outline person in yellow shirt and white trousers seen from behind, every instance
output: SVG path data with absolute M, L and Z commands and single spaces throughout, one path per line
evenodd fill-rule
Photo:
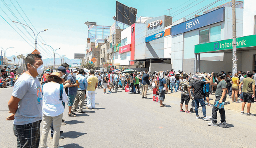
M 87 78 L 87 107 L 86 109 L 95 108 L 95 90 L 98 86 L 98 78 L 94 76 L 94 70 L 90 69 L 90 76 Z

